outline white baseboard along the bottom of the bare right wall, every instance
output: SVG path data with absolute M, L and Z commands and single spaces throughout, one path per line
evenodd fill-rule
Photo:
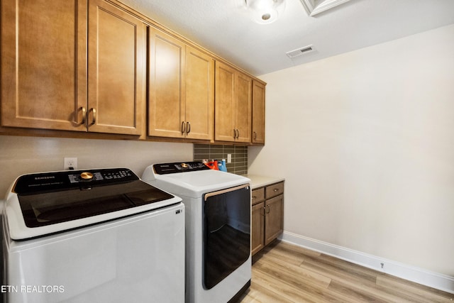
M 284 231 L 282 241 L 454 294 L 454 277 Z

